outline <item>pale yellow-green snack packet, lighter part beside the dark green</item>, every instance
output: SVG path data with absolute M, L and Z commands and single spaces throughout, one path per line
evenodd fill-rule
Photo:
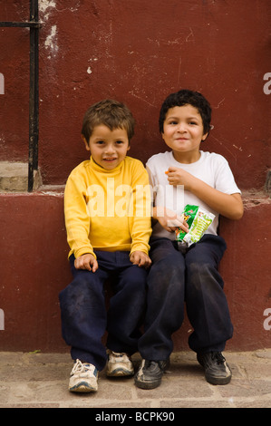
M 204 208 L 198 208 L 197 216 L 194 218 L 193 223 L 189 228 L 189 232 L 185 235 L 185 237 L 183 237 L 183 241 L 187 243 L 188 247 L 199 241 L 214 218 L 215 215 L 209 211 Z

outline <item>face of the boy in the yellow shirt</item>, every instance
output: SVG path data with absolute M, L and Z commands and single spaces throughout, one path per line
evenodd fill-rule
M 86 150 L 91 151 L 92 159 L 107 170 L 115 169 L 130 150 L 127 131 L 111 131 L 104 124 L 94 127 L 88 142 L 84 139 Z

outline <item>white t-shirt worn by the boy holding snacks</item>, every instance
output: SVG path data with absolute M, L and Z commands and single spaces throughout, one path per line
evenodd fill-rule
M 241 193 L 240 189 L 237 188 L 227 160 L 222 155 L 202 150 L 199 152 L 199 160 L 191 164 L 179 163 L 179 161 L 174 159 L 172 151 L 162 152 L 150 157 L 147 161 L 146 169 L 149 173 L 150 184 L 153 189 L 154 206 L 167 207 L 178 215 L 181 215 L 187 204 L 205 208 L 216 216 L 205 233 L 217 235 L 218 212 L 210 208 L 191 192 L 183 190 L 181 185 L 178 187 L 169 185 L 168 175 L 165 174 L 165 171 L 169 167 L 178 167 L 188 171 L 191 175 L 203 180 L 210 187 L 218 189 L 221 192 L 226 194 Z M 168 232 L 162 228 L 159 222 L 154 225 L 152 236 L 175 239 L 175 233 Z

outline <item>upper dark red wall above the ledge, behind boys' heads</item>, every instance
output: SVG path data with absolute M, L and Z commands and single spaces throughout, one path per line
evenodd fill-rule
M 1 2 L 3 21 L 29 19 L 28 0 Z M 40 3 L 40 144 L 44 183 L 64 183 L 87 158 L 82 115 L 93 102 L 126 102 L 138 122 L 131 155 L 165 150 L 160 103 L 180 88 L 213 106 L 205 150 L 230 163 L 242 189 L 263 186 L 270 168 L 269 0 L 72 0 Z M 0 29 L 0 155 L 28 150 L 29 30 Z M 270 78 L 271 79 L 271 78 Z M 269 79 L 269 80 L 270 80 Z

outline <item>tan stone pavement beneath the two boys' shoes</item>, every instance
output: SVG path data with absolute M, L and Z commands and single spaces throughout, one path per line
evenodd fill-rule
M 174 413 L 173 423 L 177 424 L 177 420 L 181 421 L 178 414 L 183 418 L 180 409 L 271 408 L 271 349 L 224 355 L 232 371 L 227 385 L 206 382 L 195 353 L 189 351 L 171 354 L 169 368 L 158 388 L 140 389 L 133 378 L 109 378 L 104 369 L 99 373 L 98 392 L 73 393 L 68 390 L 73 368 L 69 353 L 0 352 L 0 409 L 87 408 L 91 422 L 102 421 L 101 414 L 103 420 L 110 420 L 109 414 L 115 412 L 127 414 L 125 422 L 114 418 L 115 424 L 118 421 L 118 424 L 129 425 L 130 416 L 133 421 L 153 424 L 151 421 L 166 420 L 167 412 Z M 135 371 L 140 360 L 139 353 L 132 355 Z M 140 411 L 144 412 L 143 419 Z M 154 417 L 150 417 L 151 412 Z M 160 417 L 156 417 L 155 412 L 160 413 Z M 20 411 L 20 416 L 22 413 Z M 210 411 L 208 419 L 209 414 Z M 28 412 L 27 415 L 29 419 Z

